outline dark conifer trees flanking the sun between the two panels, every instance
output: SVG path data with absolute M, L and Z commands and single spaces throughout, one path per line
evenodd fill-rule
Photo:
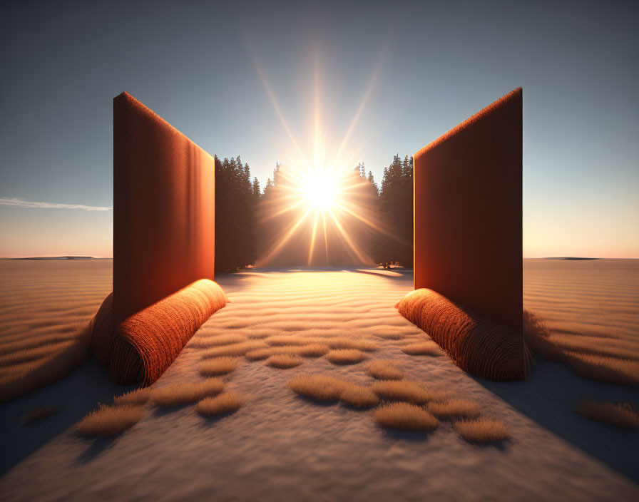
M 273 237 L 281 235 L 296 217 L 294 212 L 276 215 L 274 202 L 285 198 L 282 188 L 280 164 L 275 165 L 272 178 L 268 178 L 263 194 L 260 182 L 252 178 L 248 164 L 242 165 L 239 156 L 220 160 L 215 157 L 215 270 L 230 272 L 255 265 L 258 257 L 264 257 L 273 245 Z M 349 231 L 356 237 L 372 259 L 388 267 L 399 263 L 404 267 L 413 265 L 413 158 L 402 160 L 394 155 L 392 163 L 384 168 L 381 186 L 378 187 L 373 173 L 368 174 L 364 163 L 359 163 L 351 177 L 355 187 L 350 200 L 357 208 L 359 217 L 367 220 L 354 221 Z M 259 225 L 258 225 L 259 222 Z M 295 242 L 295 241 L 294 241 Z M 342 258 L 337 244 L 332 240 L 326 264 L 338 264 Z M 300 242 L 290 247 L 300 247 Z M 304 247 L 305 248 L 305 247 Z M 289 250 L 283 260 L 292 260 L 287 265 L 299 265 L 308 260 L 306 252 Z M 287 258 L 288 257 L 288 258 Z M 280 263 L 284 265 L 284 263 Z

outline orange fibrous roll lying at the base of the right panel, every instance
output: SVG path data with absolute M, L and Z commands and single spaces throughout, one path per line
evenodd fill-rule
M 426 288 L 409 292 L 397 308 L 466 372 L 495 381 L 523 380 L 530 373 L 532 354 L 513 329 Z

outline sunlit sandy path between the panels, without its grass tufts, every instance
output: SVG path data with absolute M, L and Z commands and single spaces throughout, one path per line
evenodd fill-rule
M 307 359 L 300 367 L 281 370 L 242 362 L 228 379 L 228 389 L 247 397 L 237 413 L 203 419 L 193 406 L 149 406 L 140 423 L 113 440 L 81 439 L 66 429 L 0 478 L 4 500 L 639 498 L 637 431 L 616 431 L 572 411 L 583 396 L 636 399 L 634 389 L 578 379 L 549 362 L 539 362 L 529 381 L 494 384 L 467 376 L 445 356 L 408 356 L 399 350 L 401 339 L 426 336 L 393 307 L 411 290 L 411 277 L 402 273 L 257 270 L 222 276 L 219 282 L 232 303 L 203 325 L 156 386 L 200 379 L 203 349 L 195 345 L 205 337 L 322 330 L 374 339 L 379 349 L 372 357 L 394 359 L 410 379 L 479 401 L 485 416 L 508 426 L 511 439 L 474 446 L 447 423 L 431 434 L 389 433 L 374 424 L 372 411 L 314 404 L 285 386 L 295 374 L 322 371 L 370 384 L 362 364 L 335 367 L 324 358 Z M 68 396 L 70 381 L 81 393 L 99 379 L 82 377 L 94 369 L 89 364 L 68 381 L 1 410 L 16 417 L 36 399 Z M 103 395 L 106 384 L 99 383 Z M 26 434 L 24 427 L 21 431 Z

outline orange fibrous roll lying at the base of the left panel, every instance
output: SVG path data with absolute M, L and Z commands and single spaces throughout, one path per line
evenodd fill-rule
M 128 317 L 116 327 L 109 376 L 118 384 L 152 384 L 198 328 L 227 302 L 218 284 L 200 279 Z

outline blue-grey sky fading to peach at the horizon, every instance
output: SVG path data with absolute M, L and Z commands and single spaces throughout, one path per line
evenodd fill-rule
M 229 6 L 230 4 L 230 6 Z M 381 180 L 523 86 L 524 256 L 639 257 L 636 2 L 13 2 L 0 19 L 0 198 L 112 205 L 112 98 L 140 99 L 262 185 L 295 152 Z M 376 73 L 377 71 L 377 73 Z M 377 74 L 377 78 L 374 76 Z M 329 155 L 330 156 L 330 155 Z M 0 256 L 111 255 L 111 211 L 0 204 Z

